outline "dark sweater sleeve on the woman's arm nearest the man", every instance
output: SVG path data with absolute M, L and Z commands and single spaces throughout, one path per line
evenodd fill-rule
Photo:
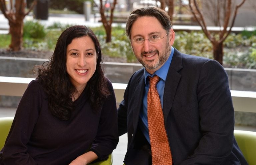
M 90 149 L 97 154 L 100 160 L 106 160 L 118 143 L 116 99 L 109 80 L 108 89 L 111 94 L 104 101 L 97 135 Z

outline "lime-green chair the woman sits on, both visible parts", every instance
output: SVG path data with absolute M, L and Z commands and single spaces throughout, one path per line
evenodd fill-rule
M 5 117 L 5 118 L 0 118 L 0 150 L 3 148 L 6 137 L 10 131 L 12 121 L 14 117 Z M 113 163 L 113 158 L 112 154 L 108 156 L 107 160 L 100 161 L 97 163 L 90 163 L 90 165 L 112 165 Z

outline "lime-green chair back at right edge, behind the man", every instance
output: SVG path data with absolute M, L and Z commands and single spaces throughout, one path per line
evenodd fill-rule
M 234 130 L 235 139 L 249 165 L 256 165 L 256 132 Z

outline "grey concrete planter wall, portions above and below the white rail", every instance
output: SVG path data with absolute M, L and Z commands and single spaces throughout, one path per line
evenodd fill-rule
M 35 78 L 33 68 L 46 59 L 0 57 L 0 76 Z M 131 75 L 142 68 L 141 64 L 105 62 L 105 76 L 112 83 L 128 83 Z M 256 91 L 255 69 L 225 68 L 231 90 Z M 0 96 L 0 106 L 17 107 L 21 97 Z M 235 112 L 236 125 L 256 126 L 256 113 Z

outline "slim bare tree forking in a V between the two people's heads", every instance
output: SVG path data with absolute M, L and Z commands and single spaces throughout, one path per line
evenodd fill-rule
M 110 3 L 110 11 L 107 10 L 107 7 L 103 3 L 103 0 L 100 0 L 100 15 L 101 22 L 103 23 L 104 29 L 106 31 L 106 42 L 111 42 L 111 31 L 112 31 L 112 23 L 114 17 L 114 9 L 116 6 L 117 0 L 113 0 L 113 3 Z M 106 13 L 106 14 L 105 14 Z M 108 16 L 110 13 L 110 16 Z

